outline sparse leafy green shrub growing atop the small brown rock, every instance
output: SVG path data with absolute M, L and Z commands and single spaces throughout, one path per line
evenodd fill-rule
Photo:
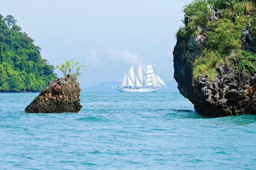
M 74 62 L 74 59 L 72 58 L 70 61 L 66 61 L 65 63 L 61 64 L 61 66 L 56 66 L 56 68 L 63 73 L 64 77 L 67 77 L 68 74 L 71 74 L 76 80 L 78 80 L 79 76 L 82 74 L 80 69 L 85 67 L 85 65 L 80 66 L 79 62 Z

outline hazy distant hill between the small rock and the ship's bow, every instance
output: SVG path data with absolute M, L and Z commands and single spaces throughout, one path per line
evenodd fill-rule
M 119 86 L 122 84 L 118 81 L 104 81 L 91 87 L 83 88 L 84 92 L 118 92 L 112 87 Z

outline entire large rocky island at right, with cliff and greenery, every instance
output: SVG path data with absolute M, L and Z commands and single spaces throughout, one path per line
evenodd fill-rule
M 195 0 L 176 33 L 174 79 L 197 112 L 256 114 L 256 1 Z

